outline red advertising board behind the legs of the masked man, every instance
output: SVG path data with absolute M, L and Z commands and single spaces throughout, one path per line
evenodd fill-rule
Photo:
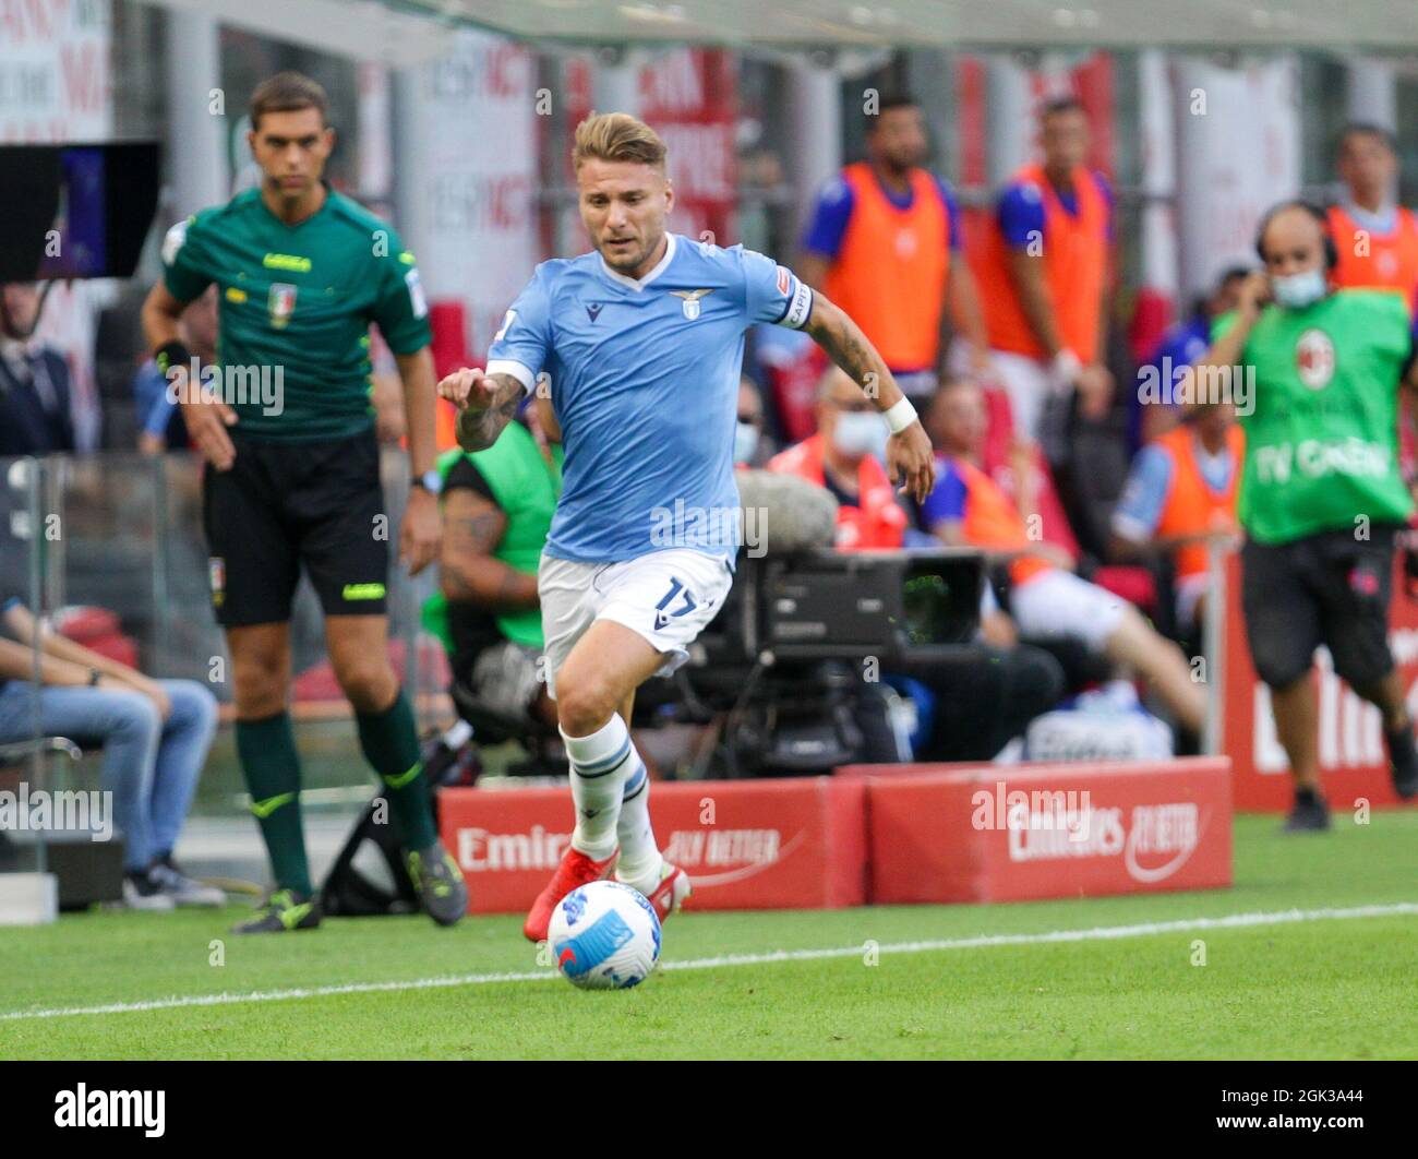
M 1404 594 L 1402 563 L 1394 563 L 1394 600 L 1388 643 L 1404 678 L 1408 704 L 1418 704 L 1418 603 Z M 1289 762 L 1275 735 L 1269 689 L 1256 678 L 1241 613 L 1241 563 L 1227 560 L 1227 623 L 1222 664 L 1222 750 L 1235 769 L 1235 804 L 1241 811 L 1282 811 L 1292 803 Z M 1398 804 L 1388 776 L 1383 719 L 1377 708 L 1334 675 L 1329 651 L 1320 650 L 1317 688 L 1319 758 L 1324 794 L 1336 809 Z

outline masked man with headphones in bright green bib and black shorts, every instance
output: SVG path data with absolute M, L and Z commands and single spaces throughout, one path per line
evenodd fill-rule
M 1388 650 L 1395 535 L 1412 511 L 1398 464 L 1398 389 L 1418 392 L 1418 366 L 1400 295 L 1332 289 L 1336 253 L 1322 210 L 1276 206 L 1256 250 L 1265 272 L 1251 274 L 1236 309 L 1215 321 L 1201 367 L 1254 373 L 1254 409 L 1238 411 L 1241 604 L 1295 776 L 1286 830 L 1324 830 L 1310 680 L 1320 644 L 1383 712 L 1395 790 L 1418 793 L 1412 718 Z

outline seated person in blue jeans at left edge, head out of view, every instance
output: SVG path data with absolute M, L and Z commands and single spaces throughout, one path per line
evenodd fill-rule
M 38 725 L 45 736 L 104 746 L 104 789 L 113 794 L 123 834 L 123 904 L 221 905 L 221 889 L 193 881 L 173 861 L 217 729 L 217 698 L 196 681 L 150 680 L 62 636 L 41 634 L 16 597 L 0 596 L 0 617 L 16 637 L 0 638 L 0 742 L 24 741 Z M 38 687 L 31 682 L 34 647 Z

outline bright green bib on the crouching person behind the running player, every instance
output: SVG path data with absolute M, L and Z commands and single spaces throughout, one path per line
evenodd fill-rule
M 509 423 L 506 430 L 484 451 L 454 448 L 440 455 L 438 474 L 444 482 L 458 460 L 468 457 L 492 489 L 492 498 L 508 519 L 502 542 L 492 553 L 509 567 L 535 576 L 542 563 L 542 548 L 552 529 L 552 515 L 562 494 L 562 445 L 552 444 L 549 470 L 532 431 L 520 423 Z M 435 592 L 424 601 L 424 627 L 442 640 L 448 654 L 454 653 L 448 628 L 448 599 Z M 542 611 L 536 607 L 509 611 L 496 617 L 498 631 L 515 644 L 542 647 Z

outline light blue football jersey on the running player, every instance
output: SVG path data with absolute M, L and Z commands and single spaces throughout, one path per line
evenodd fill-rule
M 813 292 L 771 258 L 669 234 L 635 281 L 598 253 L 545 261 L 488 352 L 529 390 L 545 375 L 566 458 L 546 552 L 613 563 L 664 548 L 732 560 L 743 333 L 801 328 Z

